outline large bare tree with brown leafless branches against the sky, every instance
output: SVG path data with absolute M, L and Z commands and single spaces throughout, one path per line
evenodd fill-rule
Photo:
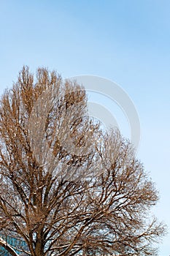
M 23 67 L 0 121 L 0 245 L 11 255 L 156 255 L 165 227 L 147 215 L 158 192 L 131 144 L 88 117 L 81 86 Z

